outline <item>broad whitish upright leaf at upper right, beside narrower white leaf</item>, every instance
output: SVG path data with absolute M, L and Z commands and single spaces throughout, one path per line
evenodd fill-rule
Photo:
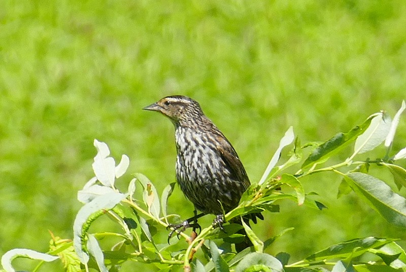
M 386 112 L 377 114 L 355 141 L 354 154 L 365 153 L 380 145 L 388 136 L 392 120 Z

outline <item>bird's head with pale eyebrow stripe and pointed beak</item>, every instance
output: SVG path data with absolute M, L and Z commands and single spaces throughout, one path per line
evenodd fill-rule
M 181 95 L 167 96 L 143 108 L 161 112 L 171 119 L 175 126 L 189 126 L 204 116 L 197 101 Z

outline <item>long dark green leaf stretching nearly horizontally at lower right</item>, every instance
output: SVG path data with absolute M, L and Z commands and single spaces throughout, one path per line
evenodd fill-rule
M 330 246 L 324 250 L 318 251 L 309 257 L 306 261 L 322 261 L 335 258 L 345 259 L 348 257 L 357 257 L 365 253 L 371 248 L 379 248 L 385 244 L 391 243 L 395 239 L 382 239 L 375 237 L 367 237 L 363 239 L 354 239 L 340 244 Z

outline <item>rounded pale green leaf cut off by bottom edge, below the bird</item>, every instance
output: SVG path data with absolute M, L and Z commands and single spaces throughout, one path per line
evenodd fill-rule
M 235 267 L 235 272 L 282 272 L 282 263 L 269 254 L 253 252 L 245 256 Z

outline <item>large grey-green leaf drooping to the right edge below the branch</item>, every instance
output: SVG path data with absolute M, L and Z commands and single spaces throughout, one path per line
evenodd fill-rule
M 385 182 L 358 172 L 348 173 L 345 179 L 357 195 L 388 222 L 406 228 L 406 199 L 393 192 Z

